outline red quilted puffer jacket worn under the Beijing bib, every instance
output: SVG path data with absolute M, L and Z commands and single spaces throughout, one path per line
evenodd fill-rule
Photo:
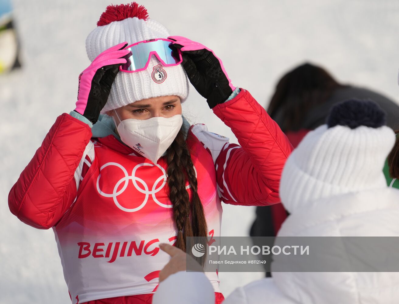
M 211 149 L 206 149 L 198 137 L 214 158 L 212 170 L 223 201 L 235 205 L 279 203 L 280 175 L 292 150 L 279 126 L 244 89 L 234 99 L 217 105 L 213 112 L 232 129 L 241 145 L 240 147 L 227 142 L 215 155 Z M 73 213 L 71 209 L 79 209 L 77 204 L 80 203 L 81 192 L 77 192 L 77 187 L 83 176 L 82 170 L 80 175 L 77 174 L 77 168 L 83 163 L 82 159 L 89 163 L 93 161 L 85 153 L 91 137 L 91 129 L 87 124 L 69 114 L 60 115 L 10 190 L 8 203 L 11 212 L 24 223 L 39 229 L 49 229 L 59 222 L 65 223 L 65 217 Z M 114 142 L 118 144 L 115 138 Z M 95 149 L 101 151 L 101 147 Z M 212 158 L 208 161 L 213 166 Z M 98 165 L 98 161 L 93 164 Z M 92 165 L 90 170 L 95 172 L 99 168 Z M 77 247 L 76 244 L 74 246 Z M 76 294 L 72 290 L 71 294 L 76 301 Z M 222 296 L 217 302 L 221 299 Z M 134 296 L 131 300 L 133 303 Z M 110 300 L 106 303 L 116 302 Z

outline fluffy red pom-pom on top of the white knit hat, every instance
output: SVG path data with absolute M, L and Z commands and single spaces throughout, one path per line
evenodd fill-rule
M 138 5 L 136 2 L 130 4 L 109 5 L 103 14 L 101 14 L 97 26 L 105 26 L 113 21 L 120 21 L 126 18 L 138 18 L 147 20 L 147 9 Z

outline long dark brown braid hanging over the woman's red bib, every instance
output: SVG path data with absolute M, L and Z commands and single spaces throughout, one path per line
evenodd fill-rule
M 190 150 L 184 140 L 183 126 L 166 151 L 166 160 L 168 162 L 169 199 L 173 203 L 174 221 L 178 230 L 176 247 L 186 251 L 186 237 L 194 236 L 205 239 L 208 229 L 201 199 L 197 193 L 196 172 Z M 191 202 L 186 189 L 187 180 L 192 190 Z M 202 265 L 205 263 L 205 256 L 197 259 Z

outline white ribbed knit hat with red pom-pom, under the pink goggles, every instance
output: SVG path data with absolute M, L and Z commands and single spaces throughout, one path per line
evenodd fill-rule
M 167 38 L 168 30 L 155 20 L 148 19 L 147 10 L 131 4 L 109 5 L 95 28 L 86 38 L 86 52 L 90 61 L 106 49 L 127 41 Z M 188 79 L 182 65 L 164 67 L 166 73 L 162 83 L 152 78 L 154 67 L 161 63 L 152 56 L 146 70 L 135 73 L 120 71 L 111 87 L 111 93 L 101 113 L 128 105 L 141 99 L 177 95 L 185 101 L 188 95 Z

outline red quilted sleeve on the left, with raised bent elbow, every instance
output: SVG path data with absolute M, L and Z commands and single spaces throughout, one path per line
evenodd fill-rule
M 91 138 L 91 128 L 63 113 L 8 194 L 10 211 L 39 229 L 54 226 L 77 193 L 75 170 Z

